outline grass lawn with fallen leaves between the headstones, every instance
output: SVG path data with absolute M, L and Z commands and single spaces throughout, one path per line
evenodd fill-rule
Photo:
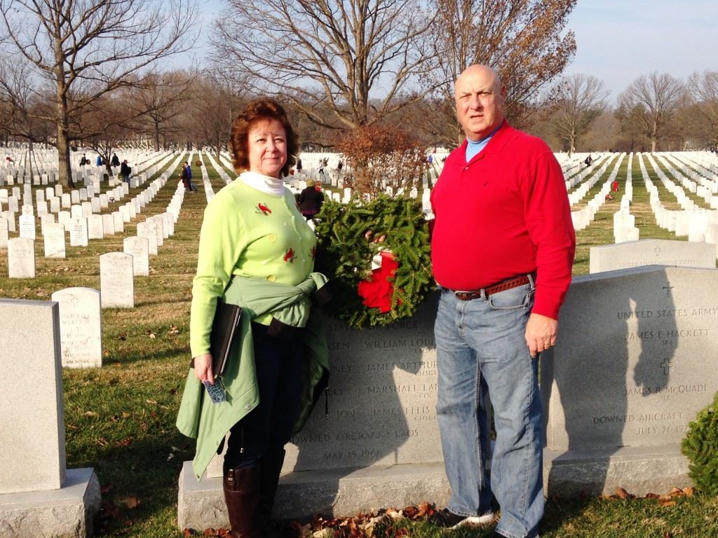
M 185 157 L 186 158 L 186 157 Z M 183 159 L 184 160 L 184 159 Z M 196 156 L 195 159 L 196 160 Z M 625 181 L 628 159 L 619 180 Z M 205 164 L 208 164 L 205 161 Z M 608 167 L 612 170 L 614 161 Z M 661 189 L 655 171 L 648 166 Z M 88 247 L 67 246 L 67 258 L 43 257 L 42 239 L 36 242 L 37 278 L 0 278 L 0 296 L 48 300 L 55 291 L 86 286 L 99 289 L 98 256 L 122 250 L 122 239 L 134 235 L 136 222 L 164 212 L 176 185 L 177 171 L 125 232 Z M 189 318 L 192 277 L 197 263 L 197 240 L 206 200 L 201 174 L 193 164 L 196 194 L 185 195 L 174 236 L 150 258 L 150 275 L 135 278 L 135 308 L 103 310 L 103 367 L 65 369 L 67 466 L 93 467 L 102 491 L 102 509 L 95 524 L 98 537 L 180 537 L 176 527 L 177 479 L 194 445 L 174 428 L 190 360 Z M 208 167 L 213 189 L 223 185 Z M 594 189 L 600 189 L 602 178 Z M 131 189 L 133 196 L 144 189 Z M 648 194 L 633 159 L 634 198 L 631 212 L 640 237 L 675 239 L 661 230 L 648 207 Z M 592 191 L 594 191 L 592 189 Z M 104 187 L 103 187 L 104 190 Z M 595 192 L 587 194 L 587 199 Z M 661 200 L 673 208 L 676 200 L 665 189 Z M 589 248 L 613 242 L 612 213 L 620 196 L 602 206 L 595 222 L 577 233 L 574 274 L 588 273 Z M 112 210 L 111 207 L 108 210 Z M 574 208 L 575 209 L 575 208 Z M 0 256 L 0 275 L 7 274 L 6 256 Z M 666 494 L 656 491 L 656 494 Z M 432 499 L 426 499 L 431 502 Z M 378 527 L 379 528 L 379 527 Z M 337 527 L 333 537 L 349 537 L 349 527 Z M 381 527 L 383 536 L 437 538 L 440 535 L 482 538 L 491 529 L 447 532 L 425 519 L 404 520 Z M 326 533 L 325 533 L 326 534 Z M 360 534 L 359 534 L 360 536 Z M 549 499 L 541 527 L 544 538 L 562 537 L 714 537 L 718 536 L 718 499 L 696 494 L 670 502 L 658 499 Z M 326 538 L 330 538 L 327 536 Z

